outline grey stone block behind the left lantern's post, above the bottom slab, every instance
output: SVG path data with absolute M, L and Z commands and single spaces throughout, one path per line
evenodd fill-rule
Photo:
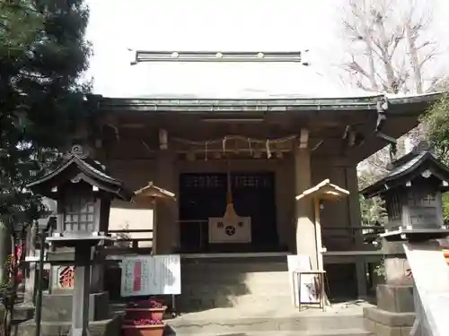
M 65 293 L 42 295 L 42 321 L 43 322 L 70 322 L 72 321 L 73 290 Z M 89 300 L 89 321 L 102 321 L 110 318 L 108 292 L 92 293 Z

